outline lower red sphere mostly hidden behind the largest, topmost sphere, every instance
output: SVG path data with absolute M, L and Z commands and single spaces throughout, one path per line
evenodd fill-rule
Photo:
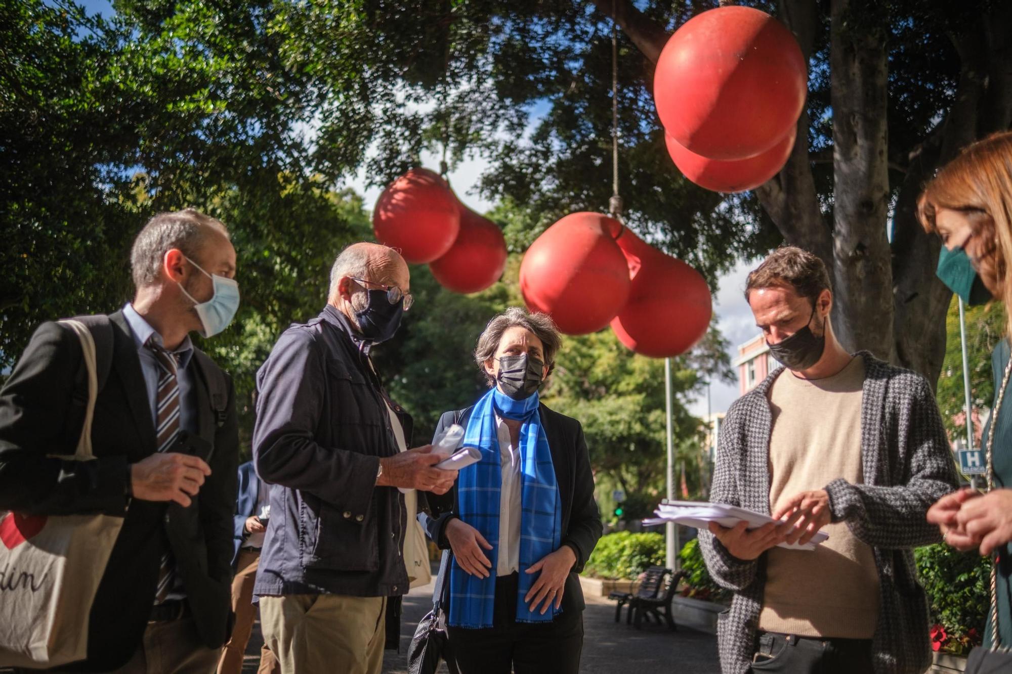
M 755 189 L 780 172 L 790 157 L 796 134 L 796 128 L 792 129 L 766 152 L 737 161 L 708 159 L 689 152 L 668 134 L 664 135 L 664 141 L 675 166 L 695 184 L 714 192 L 744 192 Z

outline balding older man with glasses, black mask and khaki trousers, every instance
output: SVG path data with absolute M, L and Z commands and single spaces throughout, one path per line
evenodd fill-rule
M 334 261 L 319 317 L 281 335 L 257 376 L 254 462 L 271 490 L 254 594 L 284 674 L 378 674 L 409 588 L 398 490 L 443 494 L 455 471 L 408 449 L 411 417 L 369 360 L 412 305 L 397 251 L 354 244 Z M 388 622 L 388 617 L 390 622 Z

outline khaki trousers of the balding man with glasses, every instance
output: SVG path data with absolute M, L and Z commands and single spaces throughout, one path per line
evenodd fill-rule
M 260 597 L 264 643 L 281 674 L 381 674 L 387 597 Z

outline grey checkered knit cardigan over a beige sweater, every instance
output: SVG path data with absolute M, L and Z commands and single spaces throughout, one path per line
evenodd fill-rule
M 845 521 L 874 551 L 880 582 L 878 624 L 872 643 L 875 674 L 921 674 L 931 662 L 928 607 L 917 583 L 911 549 L 937 542 L 925 521 L 928 507 L 955 488 L 952 456 L 938 407 L 924 377 L 864 358 L 861 465 L 864 484 L 834 480 L 833 521 Z M 710 500 L 769 513 L 768 392 L 782 368 L 735 401 L 721 428 Z M 827 410 L 812 410 L 818 423 Z M 815 449 L 815 448 L 814 448 Z M 720 615 L 718 643 L 725 674 L 747 674 L 763 602 L 766 555 L 745 562 L 732 557 L 708 531 L 699 543 L 710 575 L 735 595 Z

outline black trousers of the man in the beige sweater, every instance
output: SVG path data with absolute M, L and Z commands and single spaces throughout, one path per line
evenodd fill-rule
M 870 639 L 819 639 L 761 631 L 752 671 L 859 674 L 873 671 Z

